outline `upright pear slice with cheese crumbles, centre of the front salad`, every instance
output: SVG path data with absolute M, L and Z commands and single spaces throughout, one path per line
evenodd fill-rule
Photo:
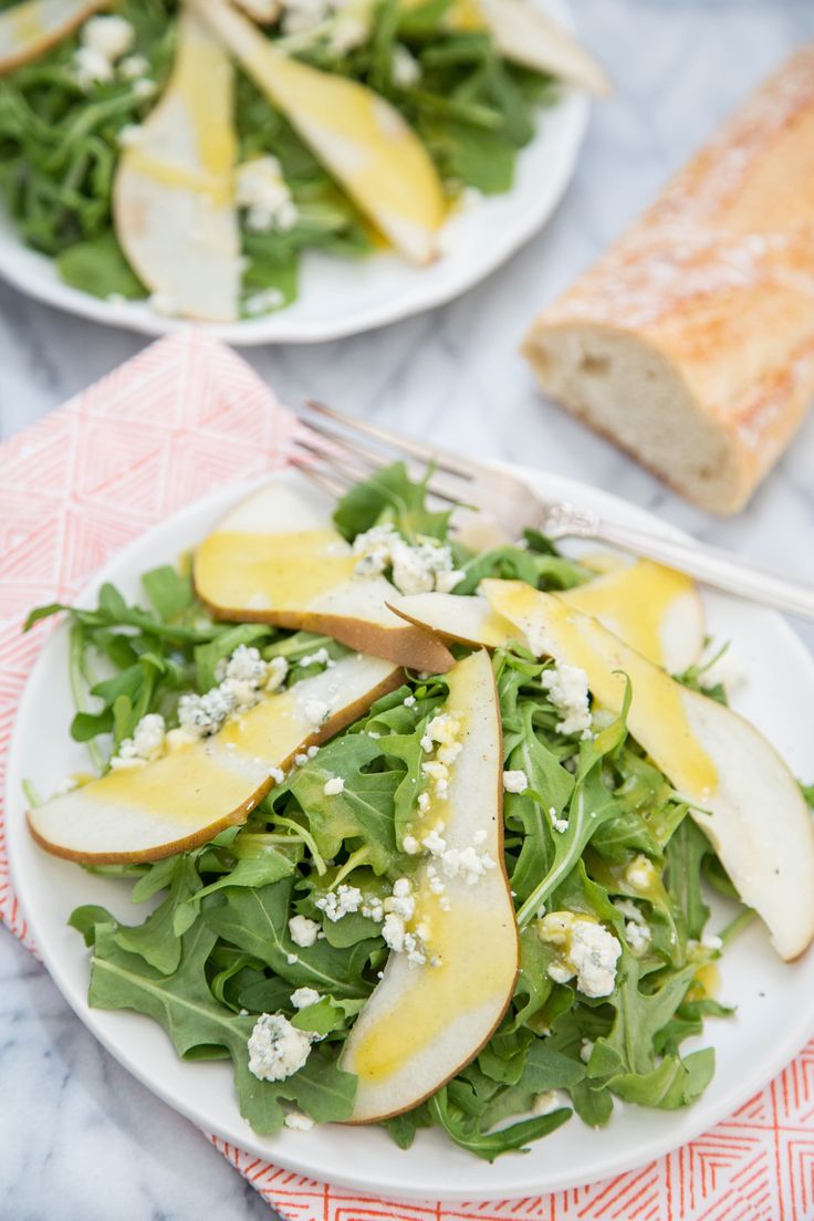
M 342 1067 L 359 1077 L 355 1123 L 398 1115 L 439 1089 L 477 1055 L 514 991 L 517 927 L 503 871 L 503 744 L 486 652 L 450 672 L 444 711 L 460 720 L 463 748 L 448 799 L 430 817 L 433 825 L 443 821 L 448 849 L 477 842 L 495 866 L 475 885 L 445 878 L 443 896 L 430 889 L 426 867 L 419 869 L 414 923 L 428 926 L 427 950 L 441 961 L 412 966 L 405 954 L 391 954 L 343 1050 Z

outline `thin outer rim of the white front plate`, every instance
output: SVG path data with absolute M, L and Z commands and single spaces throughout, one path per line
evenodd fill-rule
M 552 491 L 564 498 L 570 498 L 578 503 L 580 498 L 587 498 L 591 503 L 602 507 L 609 512 L 616 512 L 624 514 L 629 520 L 638 520 L 641 525 L 646 525 L 652 530 L 658 530 L 668 537 L 674 537 L 676 540 L 687 541 L 692 536 L 686 534 L 683 530 L 674 526 L 669 523 L 663 521 L 652 514 L 648 509 L 639 505 L 631 504 L 624 501 L 621 497 L 614 493 L 605 492 L 602 488 L 591 487 L 580 480 L 570 479 L 567 476 L 556 475 L 541 469 L 516 465 L 506 462 L 493 463 L 498 469 L 514 473 L 522 477 L 531 486 L 537 490 L 542 490 L 546 495 Z M 278 471 L 268 473 L 251 480 L 248 484 L 239 482 L 237 480 L 229 481 L 227 484 L 217 486 L 205 497 L 199 497 L 195 501 L 183 505 L 176 513 L 171 514 L 165 521 L 157 523 L 149 530 L 143 531 L 137 537 L 131 540 L 126 547 L 115 552 L 106 563 L 93 574 L 89 581 L 83 586 L 79 596 L 76 598 L 77 603 L 85 602 L 89 597 L 93 597 L 94 592 L 98 590 L 99 585 L 107 579 L 107 573 L 111 567 L 118 567 L 122 563 L 127 563 L 131 552 L 135 552 L 138 548 L 143 547 L 145 542 L 155 535 L 159 536 L 162 530 L 167 527 L 170 521 L 185 521 L 188 518 L 195 518 L 198 514 L 206 512 L 207 507 L 216 507 L 218 502 L 227 504 L 232 497 L 242 498 L 251 492 L 254 487 L 261 486 L 270 479 L 273 479 L 281 474 L 289 471 L 289 466 L 283 466 Z M 779 631 L 786 641 L 786 645 L 796 653 L 797 662 L 801 667 L 801 672 L 804 674 L 804 681 L 810 684 L 814 691 L 814 657 L 812 657 L 805 648 L 802 640 L 797 636 L 788 623 L 774 610 L 760 609 L 759 613 L 765 618 L 766 624 L 771 624 L 775 631 Z M 59 630 L 59 629 L 57 629 Z M 46 654 L 49 652 L 48 645 L 54 637 L 55 632 L 50 632 L 48 639 L 43 642 L 39 650 L 34 665 L 29 673 L 26 681 L 26 686 L 21 695 L 20 702 L 17 705 L 15 723 L 12 728 L 12 734 L 9 742 L 7 752 L 7 773 L 5 783 L 5 808 L 9 811 L 11 808 L 11 796 L 12 790 L 18 785 L 16 756 L 18 753 L 18 739 L 22 737 L 21 726 L 28 719 L 27 703 L 32 698 L 31 692 L 33 691 L 35 676 L 40 668 L 46 667 Z M 76 1012 L 78 1018 L 85 1026 L 87 1029 L 99 1040 L 99 1043 L 109 1051 L 120 1063 L 122 1063 L 142 1084 L 157 1095 L 164 1103 L 171 1106 L 173 1110 L 178 1111 L 185 1118 L 195 1123 L 198 1127 L 205 1129 L 207 1133 L 214 1133 L 218 1139 L 227 1142 L 228 1144 L 262 1159 L 262 1161 L 268 1161 L 271 1159 L 272 1165 L 279 1166 L 281 1168 L 292 1171 L 293 1173 L 301 1175 L 306 1178 L 317 1178 L 320 1176 L 319 1168 L 314 1168 L 312 1161 L 308 1156 L 303 1158 L 298 1155 L 298 1147 L 292 1145 L 290 1150 L 284 1148 L 281 1143 L 281 1154 L 278 1156 L 277 1150 L 270 1150 L 262 1144 L 262 1138 L 254 1139 L 254 1133 L 247 1125 L 245 1133 L 242 1136 L 236 1136 L 233 1131 L 228 1127 L 221 1127 L 217 1123 L 211 1123 L 210 1117 L 203 1117 L 200 1111 L 195 1105 L 188 1104 L 183 1096 L 178 1096 L 175 1090 L 170 1087 L 164 1087 L 160 1081 L 156 1079 L 155 1074 L 150 1076 L 145 1072 L 134 1054 L 131 1053 L 129 1048 L 120 1045 L 121 1042 L 127 1044 L 127 1038 L 123 1040 L 116 1040 L 109 1037 L 104 1029 L 100 1029 L 96 1021 L 96 1011 L 90 1009 L 87 1004 L 85 996 L 74 995 L 74 989 L 71 980 L 67 977 L 67 972 L 63 972 L 60 955 L 54 951 L 54 947 L 48 944 L 48 938 L 45 943 L 38 939 L 37 930 L 39 927 L 38 917 L 35 915 L 35 908 L 29 904 L 29 894 L 26 888 L 20 888 L 16 853 L 13 851 L 13 845 L 18 835 L 24 834 L 24 819 L 18 819 L 22 823 L 22 828 L 17 828 L 15 822 L 9 821 L 6 825 L 6 842 L 7 842 L 7 855 L 9 855 L 9 872 L 10 880 L 12 884 L 13 894 L 17 897 L 23 917 L 28 924 L 32 933 L 34 945 L 37 949 L 37 956 L 40 958 L 49 976 L 59 988 L 61 995 Z M 809 949 L 810 954 L 814 954 L 814 946 Z M 106 1011 L 103 1011 L 106 1012 Z M 498 1184 L 495 1188 L 476 1189 L 476 1190 L 464 1190 L 460 1189 L 447 1189 L 445 1187 L 434 1187 L 431 1193 L 432 1200 L 443 1200 L 445 1203 L 460 1203 L 460 1201 L 483 1201 L 494 1199 L 494 1192 L 497 1190 L 502 1199 L 515 1199 L 521 1197 L 527 1197 L 536 1193 L 554 1193 L 560 1190 L 575 1189 L 578 1187 L 585 1187 L 592 1183 L 597 1183 L 609 1177 L 616 1177 L 619 1175 L 625 1175 L 635 1171 L 649 1162 L 674 1153 L 679 1148 L 683 1147 L 691 1140 L 697 1139 L 703 1133 L 709 1132 L 713 1127 L 720 1123 L 722 1120 L 732 1116 L 749 1098 L 752 1098 L 758 1090 L 763 1089 L 770 1081 L 773 1081 L 777 1073 L 780 1073 L 791 1061 L 799 1054 L 799 1051 L 805 1046 L 809 1039 L 814 1035 L 814 1006 L 801 1007 L 794 1015 L 796 1021 L 792 1027 L 786 1031 L 781 1040 L 776 1040 L 771 1044 L 770 1054 L 759 1061 L 759 1068 L 752 1073 L 746 1074 L 737 1088 L 731 1089 L 726 1095 L 721 1096 L 718 1103 L 708 1103 L 698 1115 L 703 1114 L 703 1120 L 701 1122 L 693 1122 L 693 1107 L 687 1107 L 683 1111 L 671 1112 L 676 1116 L 681 1132 L 677 1137 L 671 1138 L 669 1136 L 661 1136 L 659 1131 L 654 1129 L 654 1136 L 649 1142 L 639 1143 L 636 1147 L 636 1151 L 630 1158 L 620 1158 L 619 1154 L 614 1154 L 609 1150 L 607 1158 L 594 1158 L 591 1161 L 589 1168 L 586 1167 L 586 1173 L 580 1175 L 577 1178 L 572 1176 L 565 1177 L 565 1175 L 556 1171 L 552 1172 L 549 1168 L 548 1177 L 544 1183 L 538 1183 L 535 1186 L 532 1178 L 520 1177 L 520 1183 L 516 1190 L 511 1194 L 506 1193 L 505 1186 Z M 515 1162 L 515 1165 L 517 1165 Z M 520 1166 L 519 1166 L 520 1168 Z M 325 1182 L 325 1178 L 321 1179 Z M 378 1177 L 377 1175 L 366 1172 L 364 1181 L 355 1177 L 353 1172 L 332 1172 L 330 1177 L 332 1186 L 360 1192 L 364 1194 L 372 1194 L 384 1199 L 392 1200 L 427 1200 L 427 1192 L 420 1188 L 412 1188 L 409 1183 L 403 1183 L 398 1187 L 391 1186 L 384 1176 Z

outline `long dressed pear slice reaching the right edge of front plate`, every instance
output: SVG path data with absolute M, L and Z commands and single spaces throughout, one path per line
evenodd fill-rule
M 802 954 L 814 938 L 814 823 L 775 748 L 560 598 L 520 581 L 484 581 L 483 592 L 535 653 L 583 669 L 600 706 L 619 712 L 630 676 L 631 734 L 692 802 L 692 817 L 780 956 Z

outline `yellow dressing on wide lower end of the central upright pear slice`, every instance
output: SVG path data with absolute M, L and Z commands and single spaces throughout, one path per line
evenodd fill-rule
M 362 1081 L 383 1081 L 404 1068 L 456 1017 L 505 993 L 505 932 L 493 910 L 455 895 L 449 911 L 442 911 L 437 896 L 423 893 L 415 922 L 430 926 L 428 944 L 441 965 L 408 968 L 415 974 L 410 988 L 361 1037 L 353 1072 Z

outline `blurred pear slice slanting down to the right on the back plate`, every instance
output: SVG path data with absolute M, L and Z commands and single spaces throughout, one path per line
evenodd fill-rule
M 436 256 L 441 179 L 415 132 L 384 98 L 289 59 L 226 0 L 192 0 L 270 101 L 398 250 Z

